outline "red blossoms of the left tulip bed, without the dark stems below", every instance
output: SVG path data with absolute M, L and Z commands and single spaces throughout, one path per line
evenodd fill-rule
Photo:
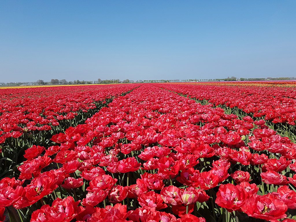
M 135 87 L 118 84 L 1 89 L 0 143 L 4 143 L 6 138 L 21 136 L 23 131 L 51 130 L 62 120 L 74 119 L 96 108 L 96 102 Z

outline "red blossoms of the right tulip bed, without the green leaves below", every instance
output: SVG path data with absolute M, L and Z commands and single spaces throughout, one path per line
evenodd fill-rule
M 157 84 L 157 86 L 207 100 L 214 105 L 237 107 L 254 117 L 264 117 L 273 123 L 295 126 L 296 88 L 263 86 L 227 86 L 202 84 Z

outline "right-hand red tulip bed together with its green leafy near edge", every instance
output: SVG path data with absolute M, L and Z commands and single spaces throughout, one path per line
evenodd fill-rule
M 244 84 L 242 83 L 242 84 L 238 84 L 238 86 L 237 85 L 223 86 L 227 88 L 226 89 L 227 92 L 225 93 L 223 91 L 223 87 L 215 83 L 213 85 L 213 89 L 218 90 L 219 87 L 221 87 L 222 91 L 215 92 L 214 94 L 216 95 L 216 97 L 213 97 L 213 98 L 208 95 L 206 95 L 205 97 L 205 94 L 203 93 L 203 91 L 201 91 L 200 88 L 203 88 L 204 90 L 205 85 L 199 85 L 199 86 L 192 85 L 193 86 L 192 88 L 188 86 L 180 87 L 179 84 L 176 84 L 176 85 L 164 85 L 164 84 L 160 85 L 159 84 L 157 86 L 163 89 L 167 89 L 169 91 L 176 92 L 181 96 L 187 96 L 188 98 L 194 99 L 196 102 L 199 102 L 200 104 L 213 104 L 214 107 L 221 107 L 224 109 L 225 113 L 235 114 L 239 118 L 243 118 L 248 115 L 251 116 L 254 120 L 262 120 L 264 118 L 264 121 L 269 128 L 277 131 L 281 136 L 289 137 L 290 140 L 296 143 L 295 121 L 290 121 L 290 120 L 294 120 L 296 116 L 295 107 L 294 107 L 295 105 L 293 105 L 295 104 L 295 101 L 296 101 L 294 98 L 295 88 L 287 87 L 287 84 L 288 83 L 284 85 L 286 86 L 286 88 L 256 86 L 255 90 L 257 92 L 254 93 L 253 91 L 254 87 L 250 87 L 248 85 L 244 86 Z M 197 88 L 199 89 L 197 90 Z M 234 101 L 235 100 L 234 94 L 231 93 L 231 96 L 229 96 L 229 92 L 228 92 L 229 90 L 236 91 L 237 95 L 242 94 L 242 96 L 246 96 L 243 99 L 244 102 Z M 260 91 L 259 94 L 258 94 L 258 91 Z M 281 91 L 280 93 L 281 96 L 279 96 L 279 93 L 277 93 L 277 91 Z M 225 94 L 227 95 L 225 96 Z M 263 99 L 262 99 L 262 96 L 264 97 Z M 289 98 L 285 98 L 285 96 Z M 258 98 L 260 99 L 260 101 Z M 227 102 L 227 99 L 230 99 L 231 102 Z M 283 100 L 286 100 L 286 102 L 283 102 Z M 287 102 L 287 100 L 289 101 Z M 263 105 L 261 102 L 263 102 Z M 261 111 L 262 112 L 258 113 L 258 109 L 262 109 L 262 110 L 259 110 L 260 112 Z M 271 112 L 276 113 L 275 115 L 278 116 L 279 118 L 275 119 L 274 114 L 272 115 L 267 114 L 267 113 L 270 114 Z M 263 114 L 265 115 L 265 117 Z M 289 119 L 288 119 L 288 116 L 289 116 Z

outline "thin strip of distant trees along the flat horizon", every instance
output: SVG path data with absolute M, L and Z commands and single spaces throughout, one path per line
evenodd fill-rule
M 264 80 L 296 80 L 296 77 L 267 77 L 267 78 L 237 78 L 235 76 L 222 78 L 222 79 L 160 79 L 160 80 L 137 80 L 137 83 L 168 83 L 168 82 L 208 82 L 208 81 L 264 81 Z M 114 84 L 114 83 L 134 83 L 133 80 L 125 79 L 120 81 L 119 79 L 106 79 L 106 80 L 95 80 L 95 81 L 85 81 L 85 80 L 74 80 L 74 81 L 67 81 L 65 79 L 51 79 L 51 81 L 46 82 L 42 79 L 38 79 L 36 82 L 9 82 L 4 83 L 0 82 L 1 86 L 20 86 L 20 85 L 71 85 L 71 84 Z

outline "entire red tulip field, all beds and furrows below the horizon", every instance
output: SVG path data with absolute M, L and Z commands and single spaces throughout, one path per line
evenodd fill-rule
M 296 222 L 296 83 L 0 89 L 0 221 Z

